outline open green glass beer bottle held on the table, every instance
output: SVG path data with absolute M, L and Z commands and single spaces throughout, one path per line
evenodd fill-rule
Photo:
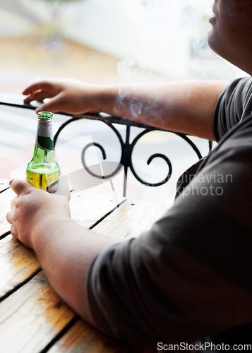
M 59 165 L 54 159 L 52 117 L 51 112 L 38 113 L 34 153 L 26 168 L 26 179 L 36 188 L 44 190 L 59 180 Z

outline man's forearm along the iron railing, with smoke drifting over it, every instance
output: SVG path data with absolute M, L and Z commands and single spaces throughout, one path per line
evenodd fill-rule
M 108 114 L 213 140 L 215 107 L 226 87 L 219 80 L 105 85 L 95 104 Z

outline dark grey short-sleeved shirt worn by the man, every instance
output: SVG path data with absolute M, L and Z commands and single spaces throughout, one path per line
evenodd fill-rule
M 218 145 L 164 217 L 90 265 L 88 300 L 104 333 L 157 347 L 252 323 L 251 87 L 243 78 L 223 92 Z

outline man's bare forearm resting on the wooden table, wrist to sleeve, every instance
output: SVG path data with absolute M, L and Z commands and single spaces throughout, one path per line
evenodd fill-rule
M 113 241 L 72 220 L 42 222 L 36 229 L 34 250 L 50 284 L 76 313 L 94 325 L 85 293 L 86 275 L 95 256 Z

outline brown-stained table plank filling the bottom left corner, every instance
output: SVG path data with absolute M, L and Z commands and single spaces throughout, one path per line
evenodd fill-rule
M 0 303 L 0 352 L 40 352 L 75 313 L 41 272 Z

